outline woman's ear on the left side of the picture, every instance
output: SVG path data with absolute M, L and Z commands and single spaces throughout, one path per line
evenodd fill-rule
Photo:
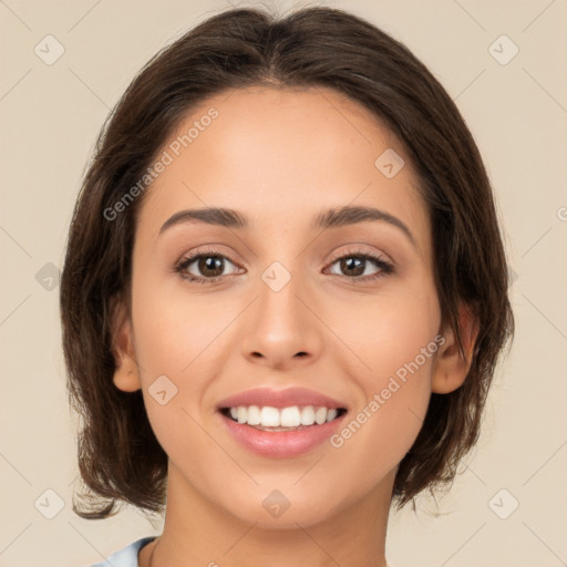
M 135 392 L 142 388 L 134 350 L 132 321 L 122 299 L 116 299 L 112 312 L 112 352 L 115 370 L 114 385 L 124 392 Z

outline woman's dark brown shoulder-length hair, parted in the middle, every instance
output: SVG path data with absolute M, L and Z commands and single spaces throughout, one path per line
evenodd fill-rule
M 94 493 L 82 495 L 89 509 L 73 503 L 82 517 L 113 515 L 117 501 L 161 513 L 167 481 L 167 455 L 142 392 L 123 392 L 112 382 L 113 306 L 123 301 L 130 312 L 134 228 L 145 193 L 110 220 L 107 212 L 144 176 L 187 112 L 209 95 L 250 85 L 332 87 L 385 123 L 402 142 L 427 204 L 442 320 L 460 347 L 458 305 L 477 318 L 468 375 L 454 392 L 432 394 L 395 477 L 398 505 L 451 482 L 477 440 L 514 320 L 493 194 L 464 120 L 408 48 L 361 18 L 330 8 L 279 19 L 231 9 L 162 50 L 134 79 L 99 136 L 74 209 L 61 316 L 70 400 L 82 417 L 79 468 Z

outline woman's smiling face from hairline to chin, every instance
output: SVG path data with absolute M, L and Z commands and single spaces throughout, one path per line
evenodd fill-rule
M 403 147 L 332 90 L 258 87 L 207 100 L 163 151 L 123 327 L 137 370 L 115 383 L 143 389 L 169 491 L 277 527 L 389 501 L 443 373 L 429 217 Z M 328 214 L 344 207 L 381 213 Z M 246 226 L 204 221 L 212 208 Z M 259 388 L 234 403 L 259 406 L 234 410 L 251 425 L 220 411 Z M 297 410 L 261 410 L 271 404 Z M 254 425 L 258 412 L 309 422 L 311 404 L 347 413 L 291 432 Z

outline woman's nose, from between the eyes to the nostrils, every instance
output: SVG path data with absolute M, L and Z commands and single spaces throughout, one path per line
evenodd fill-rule
M 312 293 L 301 285 L 300 277 L 291 277 L 278 289 L 269 275 L 265 276 L 268 277 L 258 282 L 258 297 L 249 308 L 243 355 L 255 364 L 278 370 L 313 363 L 320 357 L 324 326 Z M 276 280 L 280 277 L 281 271 Z

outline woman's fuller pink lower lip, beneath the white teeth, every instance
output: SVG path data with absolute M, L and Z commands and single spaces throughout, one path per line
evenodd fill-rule
M 228 432 L 245 449 L 272 458 L 301 455 L 324 443 L 339 427 L 346 414 L 321 425 L 309 425 L 295 431 L 262 431 L 233 421 L 219 412 Z

